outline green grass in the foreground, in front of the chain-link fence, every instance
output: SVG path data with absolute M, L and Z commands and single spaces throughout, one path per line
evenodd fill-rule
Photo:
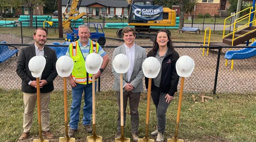
M 196 96 L 196 101 L 192 95 Z M 184 94 L 178 137 L 188 140 L 203 139 L 203 137 L 220 137 L 232 142 L 256 141 L 256 94 L 208 94 L 213 100 L 200 102 L 198 94 Z M 68 92 L 68 118 L 70 113 L 71 92 Z M 82 102 L 83 104 L 83 102 Z M 15 141 L 22 134 L 23 125 L 23 93 L 19 90 L 0 90 L 0 141 Z M 129 106 L 129 105 L 128 105 Z M 170 103 L 166 113 L 165 138 L 171 138 L 175 133 L 178 97 Z M 50 100 L 50 128 L 58 137 L 65 136 L 63 92 L 55 91 Z M 115 92 L 101 92 L 96 95 L 96 131 L 103 140 L 113 141 L 116 133 L 118 105 Z M 129 110 L 129 107 L 127 108 Z M 145 135 L 146 94 L 141 95 L 138 107 L 140 114 L 140 138 Z M 80 111 L 82 112 L 82 111 Z M 82 115 L 80 115 L 82 120 Z M 68 120 L 70 121 L 70 120 Z M 149 132 L 157 125 L 155 106 L 151 101 Z M 79 122 L 76 139 L 84 139 L 86 134 Z M 31 137 L 37 137 L 38 123 L 35 107 Z M 125 137 L 131 138 L 130 115 L 127 114 Z M 154 137 L 151 137 L 154 139 Z

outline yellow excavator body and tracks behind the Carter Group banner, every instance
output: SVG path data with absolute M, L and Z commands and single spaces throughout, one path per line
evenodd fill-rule
M 156 21 L 142 21 L 135 20 L 135 14 L 132 10 L 132 5 L 155 5 L 154 0 L 126 0 L 128 4 L 128 25 L 135 26 L 136 38 L 150 38 L 154 37 L 159 29 L 150 28 L 150 26 L 164 26 L 170 27 L 176 24 L 176 11 L 168 7 L 163 7 L 163 20 Z M 116 35 L 122 38 L 123 28 L 116 31 Z

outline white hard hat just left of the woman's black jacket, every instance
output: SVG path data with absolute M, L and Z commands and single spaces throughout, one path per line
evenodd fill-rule
M 142 63 L 142 70 L 147 78 L 156 78 L 160 71 L 160 62 L 155 57 L 148 57 Z

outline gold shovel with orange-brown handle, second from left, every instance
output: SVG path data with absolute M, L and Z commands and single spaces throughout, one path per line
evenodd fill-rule
M 68 102 L 67 102 L 67 77 L 63 77 L 64 80 L 64 113 L 65 113 L 65 137 L 60 137 L 59 142 L 75 142 L 74 138 L 70 138 L 68 135 Z

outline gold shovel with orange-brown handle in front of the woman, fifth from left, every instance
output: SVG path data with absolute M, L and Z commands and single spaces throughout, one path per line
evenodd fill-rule
M 150 95 L 151 95 L 151 82 L 152 78 L 148 78 L 148 91 L 147 91 L 147 112 L 146 112 L 146 132 L 145 137 L 139 138 L 138 142 L 154 142 L 154 139 L 148 138 L 148 122 L 149 122 L 149 110 L 150 110 Z

